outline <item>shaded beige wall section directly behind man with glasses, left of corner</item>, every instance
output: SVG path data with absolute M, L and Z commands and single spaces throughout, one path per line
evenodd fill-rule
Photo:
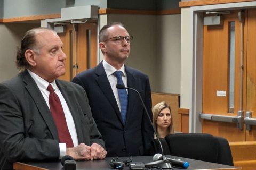
M 129 34 L 133 36 L 131 53 L 125 62 L 128 66 L 139 69 L 148 74 L 151 90 L 157 89 L 156 79 L 156 16 L 155 15 L 131 15 L 108 14 L 100 16 L 100 27 L 110 22 L 121 22 Z M 102 58 L 102 57 L 101 57 Z

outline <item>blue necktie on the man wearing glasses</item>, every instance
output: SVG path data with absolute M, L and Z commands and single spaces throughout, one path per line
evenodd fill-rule
M 116 71 L 114 72 L 115 77 L 117 78 L 117 84 L 121 84 L 124 86 L 123 80 L 122 80 L 122 71 Z M 117 89 L 118 90 L 118 96 L 119 101 L 121 105 L 121 116 L 123 123 L 125 124 L 126 119 L 126 111 L 127 111 L 127 105 L 128 105 L 128 94 L 125 89 Z

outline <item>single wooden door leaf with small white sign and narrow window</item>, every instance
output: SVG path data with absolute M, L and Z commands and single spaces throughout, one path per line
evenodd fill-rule
M 238 12 L 231 11 L 230 14 L 222 15 L 223 25 L 204 26 L 203 113 L 236 116 L 241 109 L 241 22 L 238 19 Z M 233 32 L 233 35 L 230 32 Z M 231 36 L 234 38 L 234 44 L 230 43 Z M 233 49 L 233 52 L 230 48 Z M 232 70 L 234 90 L 230 90 L 231 55 L 233 55 L 234 61 Z M 233 94 L 234 106 L 230 106 L 230 96 Z M 237 128 L 236 123 L 202 121 L 204 133 L 222 136 L 229 141 L 245 141 L 246 131 Z

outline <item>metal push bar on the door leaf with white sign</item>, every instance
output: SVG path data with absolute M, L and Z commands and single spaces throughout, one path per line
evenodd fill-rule
M 224 116 L 215 114 L 200 113 L 199 116 L 202 119 L 219 121 L 219 122 L 230 122 L 237 123 L 237 128 L 243 130 L 244 111 L 238 111 L 237 116 Z M 256 122 L 255 122 L 256 123 Z

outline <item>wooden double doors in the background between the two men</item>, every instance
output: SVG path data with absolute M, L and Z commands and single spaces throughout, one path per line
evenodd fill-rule
M 58 33 L 67 55 L 66 74 L 59 79 L 71 81 L 75 75 L 97 65 L 97 23 L 65 25 L 66 31 Z

